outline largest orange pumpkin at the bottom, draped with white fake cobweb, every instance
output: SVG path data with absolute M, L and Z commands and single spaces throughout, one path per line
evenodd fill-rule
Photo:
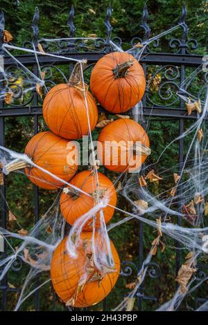
M 100 235 L 96 234 L 96 238 L 98 236 Z M 110 241 L 110 246 L 115 267 L 106 275 L 101 275 L 90 260 L 92 258 L 92 253 L 90 254 L 91 238 L 92 232 L 81 234 L 75 259 L 70 257 L 67 252 L 67 237 L 53 252 L 51 281 L 55 293 L 67 306 L 82 308 L 98 304 L 110 293 L 119 277 L 120 260 L 112 241 Z M 101 252 L 102 246 L 99 247 L 99 250 Z

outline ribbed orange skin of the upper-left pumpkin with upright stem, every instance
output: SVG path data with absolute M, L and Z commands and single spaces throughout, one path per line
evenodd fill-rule
M 98 120 L 98 109 L 89 91 L 87 104 L 93 130 Z M 58 84 L 47 93 L 43 103 L 43 117 L 49 129 L 62 138 L 74 140 L 89 133 L 84 95 L 73 86 Z

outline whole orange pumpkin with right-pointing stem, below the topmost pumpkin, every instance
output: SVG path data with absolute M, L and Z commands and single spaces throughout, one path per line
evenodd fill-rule
M 124 118 L 111 122 L 98 136 L 98 158 L 112 171 L 137 171 L 150 154 L 146 131 Z

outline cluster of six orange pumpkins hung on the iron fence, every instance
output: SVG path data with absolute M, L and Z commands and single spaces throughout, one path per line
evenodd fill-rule
M 86 113 L 86 98 L 82 91 L 80 80 L 79 64 L 76 64 L 68 84 L 54 86 L 44 98 L 43 116 L 44 121 L 51 131 L 41 132 L 33 136 L 28 142 L 25 154 L 33 163 L 42 167 L 51 174 L 34 166 L 26 166 L 25 171 L 28 178 L 35 185 L 44 189 L 55 189 L 63 183 L 60 179 L 83 190 L 90 196 L 76 192 L 66 187 L 60 196 L 60 210 L 67 223 L 73 225 L 74 221 L 94 207 L 94 194 L 96 192 L 96 176 L 93 171 L 81 171 L 78 169 L 77 152 L 73 163 L 67 164 L 67 156 L 71 149 L 69 140 L 76 140 L 93 130 L 98 121 L 98 109 L 92 94 L 87 91 L 88 119 Z M 144 95 L 146 81 L 144 71 L 137 60 L 128 53 L 110 53 L 98 60 L 92 70 L 90 78 L 90 89 L 98 102 L 111 113 L 123 113 L 135 106 Z M 128 142 L 141 141 L 149 147 L 149 140 L 144 129 L 137 122 L 128 118 L 114 120 L 104 127 L 98 137 L 98 156 L 110 156 L 110 163 L 105 165 L 112 171 L 128 171 L 128 164 L 122 165 L 121 158 L 127 155 L 127 151 L 120 151 L 116 154 L 107 151 L 105 142 Z M 71 145 L 71 148 L 74 146 Z M 115 164 L 114 161 L 117 163 Z M 144 163 L 146 155 L 141 156 L 141 163 Z M 76 176 L 75 176 L 76 174 Z M 99 191 L 102 197 L 109 200 L 110 205 L 116 206 L 116 190 L 112 181 L 105 175 L 98 172 Z M 112 219 L 114 208 L 107 206 L 103 210 L 105 223 Z M 99 226 L 99 217 L 96 218 L 96 228 Z M 92 306 L 103 300 L 110 293 L 116 280 L 119 277 L 120 261 L 119 256 L 111 242 L 112 256 L 114 258 L 114 272 L 107 273 L 97 279 L 89 275 L 89 281 L 79 286 L 83 270 L 89 264 L 86 258 L 91 250 L 92 221 L 87 223 L 81 234 L 78 257 L 72 259 L 67 253 L 67 238 L 63 239 L 53 253 L 51 261 L 51 280 L 58 296 L 68 305 L 76 307 Z M 96 234 L 98 237 L 100 234 Z M 99 241 L 99 240 L 98 240 Z M 92 252 L 91 252 L 92 253 Z M 92 268 L 92 261 L 91 261 Z M 95 268 L 95 267 L 94 267 Z M 94 269 L 93 274 L 98 272 Z

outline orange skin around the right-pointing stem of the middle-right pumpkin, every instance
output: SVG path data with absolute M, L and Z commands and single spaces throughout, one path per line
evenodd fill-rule
M 110 150 L 111 146 L 107 143 L 107 141 L 114 141 L 116 143 L 123 141 L 124 144 L 128 143 L 128 141 L 140 141 L 143 145 L 150 147 L 150 142 L 146 131 L 143 129 L 143 127 L 141 127 L 141 125 L 133 120 L 127 118 L 115 120 L 104 127 L 98 136 L 98 158 L 107 169 L 118 172 L 128 172 L 129 169 L 132 171 L 138 169 L 141 164 L 144 163 L 147 156 L 142 155 L 135 164 L 132 163 L 132 165 L 128 165 L 127 146 L 119 146 L 118 150 L 116 151 L 116 145 L 112 145 L 112 147 L 115 148 L 114 151 Z M 105 160 L 107 158 L 109 158 L 108 161 Z M 125 165 L 121 164 L 123 158 L 125 158 L 126 161 Z M 133 158 L 135 159 L 135 155 Z

